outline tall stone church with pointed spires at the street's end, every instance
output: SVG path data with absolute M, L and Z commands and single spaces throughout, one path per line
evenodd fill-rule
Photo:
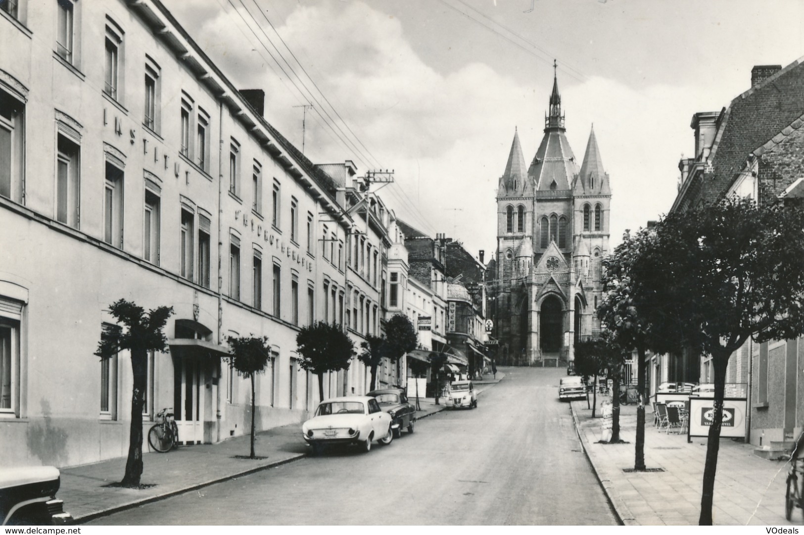
M 573 359 L 576 341 L 600 332 L 601 258 L 609 253 L 609 175 L 594 130 L 580 169 L 565 135 L 553 79 L 544 138 L 525 165 L 519 135 L 497 191 L 494 327 L 502 364 Z

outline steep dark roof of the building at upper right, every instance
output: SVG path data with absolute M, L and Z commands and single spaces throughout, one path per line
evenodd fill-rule
M 735 97 L 720 118 L 712 145 L 712 173 L 701 188 L 704 200 L 728 191 L 745 158 L 804 113 L 804 58 Z

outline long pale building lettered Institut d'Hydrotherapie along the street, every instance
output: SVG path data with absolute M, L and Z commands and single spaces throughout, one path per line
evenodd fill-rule
M 93 355 L 119 298 L 175 311 L 146 426 L 172 406 L 182 442 L 248 432 L 228 335 L 269 337 L 258 428 L 306 418 L 318 389 L 299 328 L 341 323 L 355 346 L 379 331 L 388 239 L 383 217 L 349 211 L 359 192 L 336 198 L 354 167 L 310 163 L 158 1 L 0 6 L 3 465 L 125 455 L 129 354 Z M 325 396 L 366 383 L 355 360 Z

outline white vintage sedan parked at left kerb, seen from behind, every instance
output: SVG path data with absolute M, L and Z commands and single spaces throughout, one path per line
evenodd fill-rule
M 371 441 L 390 444 L 394 438 L 391 415 L 374 397 L 333 397 L 318 404 L 315 416 L 304 422 L 301 434 L 319 455 L 328 444 L 359 444 L 371 450 Z

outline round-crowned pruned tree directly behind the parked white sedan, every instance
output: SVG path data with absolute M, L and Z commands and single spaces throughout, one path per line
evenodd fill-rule
M 355 356 L 355 344 L 337 324 L 315 322 L 296 335 L 299 366 L 318 376 L 318 396 L 324 399 L 324 373 L 347 369 Z

